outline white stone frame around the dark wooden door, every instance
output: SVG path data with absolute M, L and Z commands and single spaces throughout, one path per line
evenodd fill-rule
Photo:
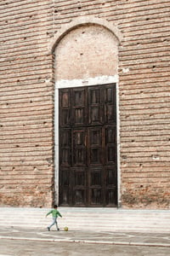
M 93 79 L 61 80 L 54 86 L 54 203 L 59 204 L 59 89 L 75 88 L 116 83 L 116 135 L 117 135 L 117 207 L 121 202 L 121 172 L 120 172 L 120 117 L 118 76 L 102 76 Z

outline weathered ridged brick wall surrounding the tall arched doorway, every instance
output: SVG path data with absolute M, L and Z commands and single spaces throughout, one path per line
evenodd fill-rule
M 0 205 L 50 206 L 54 73 L 50 39 L 79 16 L 117 26 L 122 207 L 169 207 L 169 0 L 0 3 Z

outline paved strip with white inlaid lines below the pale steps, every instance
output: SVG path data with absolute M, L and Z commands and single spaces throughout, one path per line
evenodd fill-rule
M 170 247 L 170 234 L 106 231 L 51 231 L 0 227 L 0 239 Z

